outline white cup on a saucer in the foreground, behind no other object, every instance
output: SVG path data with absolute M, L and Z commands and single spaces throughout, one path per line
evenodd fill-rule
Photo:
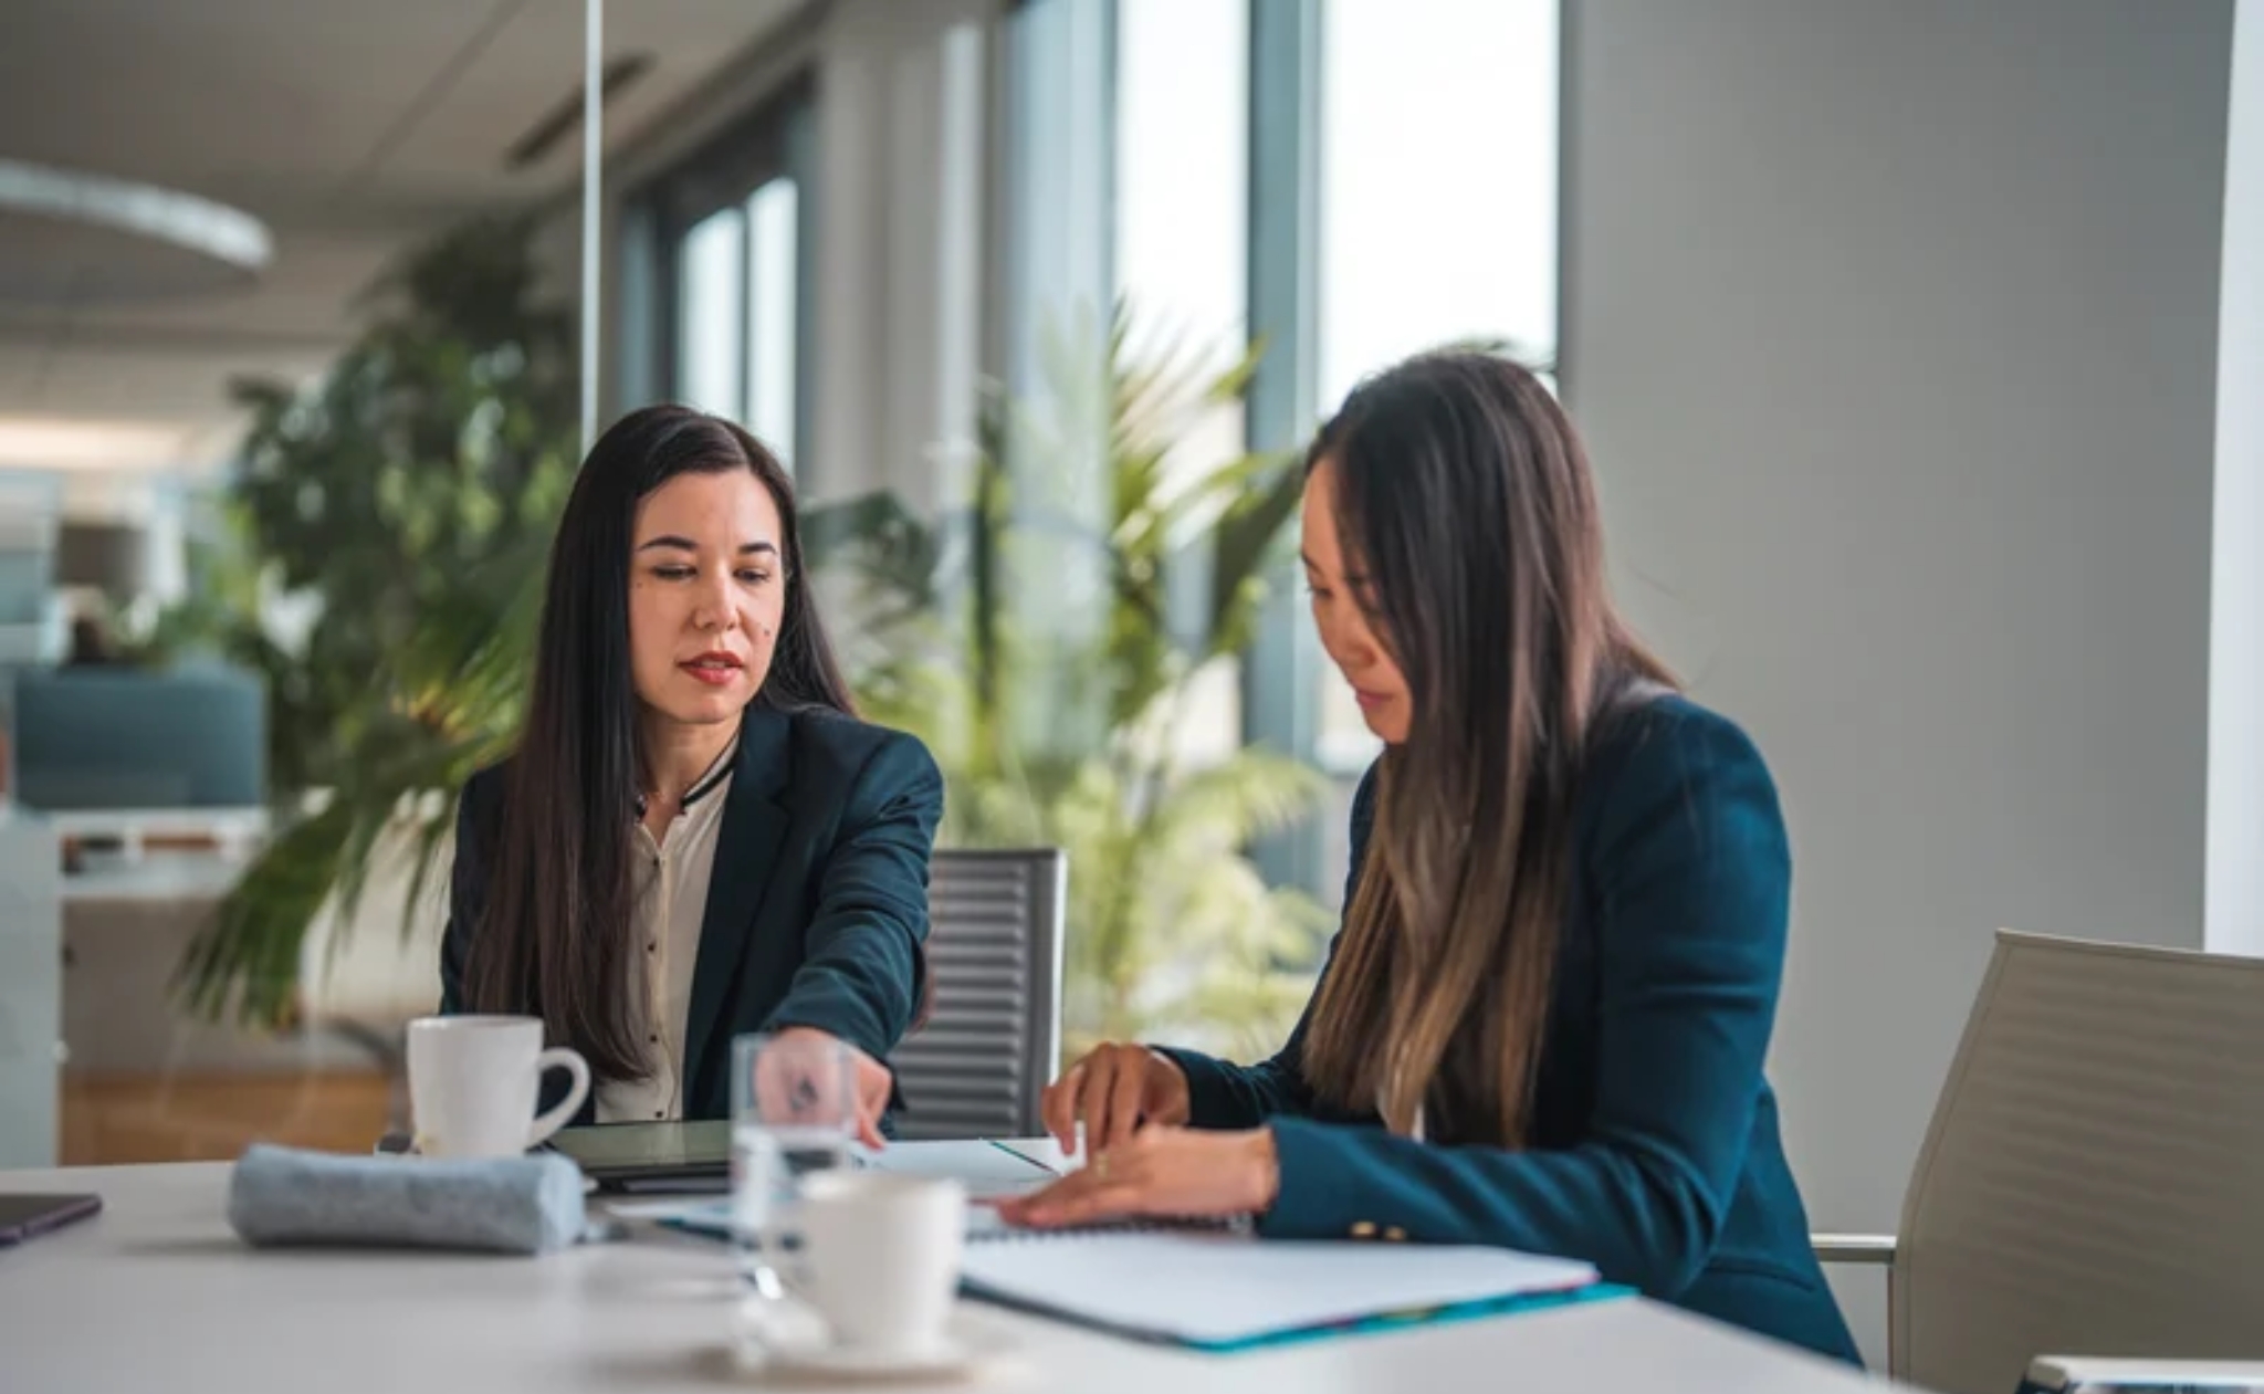
M 944 1349 L 967 1242 L 967 1186 L 949 1177 L 815 1172 L 801 1179 L 783 1229 L 801 1238 L 788 1265 L 795 1297 L 817 1310 L 835 1346 L 876 1358 Z

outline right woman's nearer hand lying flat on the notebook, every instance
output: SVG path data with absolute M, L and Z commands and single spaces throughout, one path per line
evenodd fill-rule
M 1270 1127 L 1191 1131 L 1146 1127 L 1130 1143 L 1096 1150 L 1044 1190 L 998 1204 L 1007 1224 L 1064 1229 L 1098 1220 L 1164 1215 L 1207 1220 L 1254 1215 L 1281 1190 Z

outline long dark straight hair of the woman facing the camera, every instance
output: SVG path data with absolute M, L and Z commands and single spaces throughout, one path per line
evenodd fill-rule
M 484 833 L 489 894 L 464 969 L 473 1012 L 541 1016 L 600 1079 L 648 1073 L 632 1016 L 634 821 L 641 704 L 629 668 L 636 505 L 686 473 L 747 471 L 779 507 L 786 616 L 752 706 L 854 715 L 801 577 L 795 489 L 761 441 L 691 407 L 614 423 L 575 477 L 550 548 L 525 731 L 505 765 L 500 826 Z

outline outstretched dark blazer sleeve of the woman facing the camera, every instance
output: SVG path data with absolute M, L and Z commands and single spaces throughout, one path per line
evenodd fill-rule
M 840 835 L 817 876 L 801 969 L 763 1030 L 817 1027 L 887 1059 L 919 1009 L 944 776 L 919 740 L 892 731 L 858 769 L 842 808 Z

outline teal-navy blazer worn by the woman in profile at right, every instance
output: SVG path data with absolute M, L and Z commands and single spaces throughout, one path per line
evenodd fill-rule
M 1354 885 L 1372 819 L 1374 772 L 1354 799 Z M 1261 1233 L 1583 1258 L 1662 1301 L 1859 1360 L 1761 1077 L 1791 898 L 1768 767 L 1682 697 L 1626 711 L 1598 731 L 1576 794 L 1576 855 L 1530 1150 L 1420 1143 L 1374 1111 L 1329 1109 L 1300 1073 L 1304 1021 L 1252 1068 L 1170 1050 L 1195 1127 L 1272 1125 L 1281 1193 Z

